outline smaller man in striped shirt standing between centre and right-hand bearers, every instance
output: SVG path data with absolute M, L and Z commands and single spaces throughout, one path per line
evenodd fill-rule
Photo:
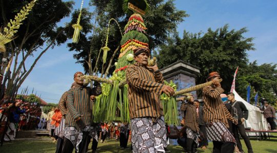
M 181 104 L 180 110 L 184 112 L 185 124 L 182 131 L 187 134 L 187 152 L 195 152 L 199 145 L 199 126 L 197 122 L 197 112 L 194 106 L 194 98 L 192 94 L 187 96 L 188 103 L 185 103 L 184 99 Z

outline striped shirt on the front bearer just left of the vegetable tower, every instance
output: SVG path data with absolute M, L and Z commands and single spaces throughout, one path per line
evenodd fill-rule
M 75 87 L 68 90 L 66 107 L 67 114 L 65 125 L 74 126 L 77 130 L 79 127 L 90 125 L 92 121 L 92 101 L 91 95 L 100 95 L 102 93 L 100 84 L 93 89 L 89 87 Z M 84 115 L 81 117 L 81 115 Z M 81 117 L 81 120 L 75 121 L 76 118 Z

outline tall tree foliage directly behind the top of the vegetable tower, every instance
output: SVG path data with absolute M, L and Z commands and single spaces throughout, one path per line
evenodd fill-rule
M 147 34 L 149 39 L 150 48 L 155 48 L 157 45 L 161 45 L 166 40 L 167 36 L 174 32 L 176 25 L 184 20 L 184 17 L 188 15 L 185 11 L 177 10 L 173 1 L 164 0 L 151 0 L 148 1 L 150 5 L 150 10 L 144 17 L 146 27 L 148 28 Z M 83 30 L 81 31 L 80 41 L 77 44 L 69 43 L 68 46 L 70 50 L 74 50 L 77 53 L 74 58 L 77 63 L 82 63 L 86 72 L 89 72 L 88 63 L 91 62 L 91 67 L 95 67 L 98 54 L 100 53 L 100 48 L 104 46 L 106 41 L 108 21 L 114 18 L 118 21 L 121 30 L 128 21 L 129 16 L 127 16 L 122 9 L 122 1 L 112 0 L 112 1 L 90 1 L 90 5 L 95 8 L 94 12 L 90 13 L 87 10 L 82 13 Z M 74 12 L 71 23 L 76 21 L 76 14 L 78 11 Z M 89 22 L 89 18 L 93 15 L 93 22 Z M 85 21 L 84 21 L 85 20 Z M 85 25 L 85 27 L 84 27 Z M 88 25 L 88 26 L 86 26 Z M 92 31 L 91 30 L 92 28 Z M 88 29 L 87 29 L 88 28 Z M 89 33 L 91 32 L 91 33 Z M 124 31 L 122 31 L 123 33 Z M 72 36 L 72 32 L 69 33 Z M 110 24 L 110 33 L 108 36 L 108 47 L 111 51 L 108 52 L 107 59 L 112 57 L 113 51 L 120 45 L 120 40 L 122 34 L 113 21 Z M 89 58 L 90 55 L 90 58 Z M 118 57 L 119 52 L 116 52 L 115 57 Z M 102 54 L 101 54 L 102 57 Z M 116 62 L 117 58 L 112 60 L 112 63 Z M 104 67 L 103 67 L 104 66 Z M 107 64 L 99 61 L 98 66 L 90 71 L 89 73 L 103 73 L 106 71 Z M 109 74 L 114 71 L 114 66 L 109 71 Z

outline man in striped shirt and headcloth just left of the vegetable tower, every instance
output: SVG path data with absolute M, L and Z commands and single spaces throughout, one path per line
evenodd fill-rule
M 62 152 L 72 152 L 73 148 L 78 152 L 86 152 L 86 146 L 89 142 L 90 125 L 92 121 L 92 103 L 91 95 L 100 95 L 102 93 L 99 83 L 94 83 L 94 88 L 85 87 L 84 80 L 81 78 L 84 74 L 76 72 L 74 74 L 75 88 L 71 88 L 67 94 L 66 100 L 66 119 L 65 119 L 65 138 Z

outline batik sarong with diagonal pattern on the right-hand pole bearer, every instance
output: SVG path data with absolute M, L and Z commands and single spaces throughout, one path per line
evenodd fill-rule
M 223 122 L 205 122 L 205 125 L 209 140 L 236 143 L 233 135 Z

